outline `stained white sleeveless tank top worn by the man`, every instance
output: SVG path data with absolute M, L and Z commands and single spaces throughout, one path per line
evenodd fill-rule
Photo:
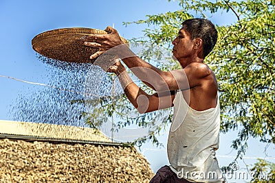
M 170 168 L 190 182 L 224 182 L 215 156 L 219 148 L 220 109 L 203 111 L 188 106 L 181 91 L 175 95 L 173 123 L 168 136 Z

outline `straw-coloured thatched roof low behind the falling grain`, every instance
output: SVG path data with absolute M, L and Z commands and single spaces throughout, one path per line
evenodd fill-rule
M 10 122 L 17 123 L 0 121 L 1 128 Z M 0 182 L 149 182 L 153 177 L 134 147 L 111 143 L 103 134 L 102 143 L 98 137 L 94 143 L 63 141 L 9 136 L 3 130 L 0 136 Z

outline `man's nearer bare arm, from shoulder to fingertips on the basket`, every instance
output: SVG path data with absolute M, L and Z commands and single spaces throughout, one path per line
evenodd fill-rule
M 98 47 L 99 51 L 91 58 L 96 58 L 105 51 L 115 53 L 124 64 L 149 87 L 159 92 L 169 90 L 185 90 L 199 85 L 199 80 L 206 75 L 205 69 L 199 64 L 190 64 L 184 69 L 177 71 L 161 71 L 157 67 L 145 62 L 122 42 L 118 32 L 107 27 L 109 34 L 91 35 L 87 38 L 85 45 Z

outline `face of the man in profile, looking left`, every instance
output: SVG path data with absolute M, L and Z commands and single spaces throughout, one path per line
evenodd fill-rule
M 177 35 L 177 38 L 173 40 L 172 44 L 173 47 L 173 56 L 179 60 L 183 60 L 184 58 L 188 58 L 193 53 L 193 47 L 194 47 L 194 40 L 191 40 L 191 36 L 189 32 L 185 29 L 185 27 L 182 27 L 179 30 L 179 34 Z

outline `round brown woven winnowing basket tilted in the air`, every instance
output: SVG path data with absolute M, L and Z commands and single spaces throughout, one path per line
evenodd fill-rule
M 65 62 L 91 62 L 89 57 L 98 51 L 97 48 L 86 47 L 83 36 L 91 34 L 107 34 L 99 29 L 63 28 L 54 29 L 38 34 L 32 39 L 32 48 L 42 56 Z M 124 42 L 126 40 L 122 38 Z

